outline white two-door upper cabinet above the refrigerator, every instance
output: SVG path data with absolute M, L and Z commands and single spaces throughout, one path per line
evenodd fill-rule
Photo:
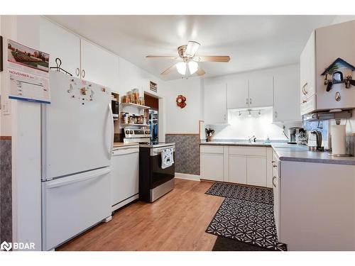
M 50 67 L 56 66 L 58 57 L 62 69 L 74 77 L 118 90 L 119 57 L 46 18 L 40 18 L 40 50 L 50 54 Z

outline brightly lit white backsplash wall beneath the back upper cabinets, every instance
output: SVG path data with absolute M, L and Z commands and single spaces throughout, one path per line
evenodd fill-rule
M 283 134 L 283 124 L 273 124 L 273 109 L 272 107 L 265 108 L 259 115 L 257 112 L 249 113 L 229 110 L 228 111 L 229 125 L 212 125 L 206 126 L 213 128 L 214 138 L 239 138 L 248 139 L 255 135 L 259 140 L 265 140 L 269 137 L 271 140 L 287 140 Z M 285 124 L 285 132 L 288 133 L 288 127 L 301 126 L 301 123 Z

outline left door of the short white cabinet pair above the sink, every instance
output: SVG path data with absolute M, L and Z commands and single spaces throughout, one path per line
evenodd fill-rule
M 227 84 L 227 108 L 239 109 L 249 107 L 249 80 L 238 77 Z

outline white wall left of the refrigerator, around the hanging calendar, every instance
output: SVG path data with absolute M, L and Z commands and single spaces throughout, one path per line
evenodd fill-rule
M 1 101 L 8 101 L 7 39 L 39 47 L 39 16 L 1 16 L 4 72 Z M 41 248 L 40 104 L 9 100 L 11 115 L 1 112 L 1 135 L 12 136 L 13 241 L 33 242 Z

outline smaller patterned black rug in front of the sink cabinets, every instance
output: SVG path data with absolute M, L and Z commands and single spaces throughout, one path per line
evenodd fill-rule
M 247 187 L 239 184 L 214 183 L 204 194 L 273 204 L 273 189 Z

